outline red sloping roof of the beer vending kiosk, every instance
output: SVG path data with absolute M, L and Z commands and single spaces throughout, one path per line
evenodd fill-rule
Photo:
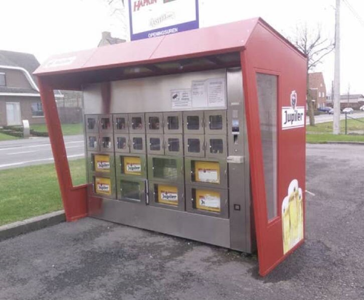
M 91 70 L 102 72 L 103 70 L 141 66 L 143 64 L 239 52 L 245 49 L 252 32 L 258 24 L 280 36 L 293 50 L 305 57 L 264 20 L 254 18 L 179 32 L 173 35 L 55 55 L 48 58 L 36 70 L 35 74 L 37 76 L 47 76 Z

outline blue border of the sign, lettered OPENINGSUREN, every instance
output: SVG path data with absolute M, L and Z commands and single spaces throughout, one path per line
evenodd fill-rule
M 196 1 L 196 20 L 186 22 L 186 23 L 171 25 L 171 26 L 168 26 L 168 27 L 158 28 L 158 29 L 151 30 L 151 31 L 145 31 L 145 32 L 140 32 L 140 33 L 137 33 L 137 34 L 133 34 L 132 33 L 133 28 L 132 28 L 132 16 L 131 16 L 131 0 L 128 0 L 130 40 L 131 41 L 136 41 L 136 40 L 141 40 L 143 38 L 150 38 L 150 37 L 155 37 L 155 36 L 169 35 L 171 33 L 177 33 L 177 32 L 182 32 L 182 31 L 187 31 L 187 30 L 199 28 L 198 0 L 195 0 L 195 1 Z

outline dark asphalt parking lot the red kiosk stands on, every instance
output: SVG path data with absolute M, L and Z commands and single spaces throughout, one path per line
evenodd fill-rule
M 254 256 L 85 218 L 0 242 L 0 299 L 363 300 L 363 159 L 307 145 L 306 242 L 264 278 Z

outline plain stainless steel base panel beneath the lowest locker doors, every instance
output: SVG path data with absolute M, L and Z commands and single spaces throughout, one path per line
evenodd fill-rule
M 229 219 L 103 199 L 92 217 L 230 248 Z

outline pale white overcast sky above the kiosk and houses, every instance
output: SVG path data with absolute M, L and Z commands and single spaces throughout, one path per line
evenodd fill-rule
M 0 49 L 33 53 L 40 62 L 55 53 L 94 48 L 102 31 L 129 36 L 128 20 L 106 5 L 110 0 L 0 0 Z M 115 5 L 121 3 L 114 0 Z M 127 2 L 127 0 L 125 0 Z M 349 10 L 345 2 L 360 16 Z M 297 24 L 321 26 L 333 40 L 335 0 L 199 0 L 200 27 L 260 16 L 284 36 Z M 341 1 L 341 93 L 364 94 L 364 1 Z M 328 93 L 333 80 L 334 55 L 316 72 L 324 72 Z

